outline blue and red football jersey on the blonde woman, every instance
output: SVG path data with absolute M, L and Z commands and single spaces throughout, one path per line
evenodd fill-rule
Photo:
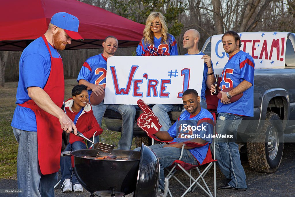
M 137 56 L 177 56 L 176 40 L 171 34 L 167 34 L 168 43 L 161 43 L 162 38 L 154 37 L 154 44 L 139 43 L 136 49 Z

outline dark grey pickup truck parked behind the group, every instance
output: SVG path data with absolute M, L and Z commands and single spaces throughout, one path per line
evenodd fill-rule
M 211 56 L 211 41 L 212 37 L 209 37 L 201 50 L 209 56 Z M 240 146 L 240 152 L 247 152 L 249 165 L 257 172 L 271 173 L 278 169 L 283 155 L 283 134 L 295 131 L 294 48 L 295 34 L 287 33 L 285 65 L 281 65 L 278 69 L 255 68 L 254 117 L 243 118 L 238 129 L 237 141 L 239 142 L 237 143 Z M 207 89 L 206 98 L 209 110 L 216 111 L 218 100 L 210 95 L 209 89 Z M 141 142 L 146 145 L 150 143 L 146 133 L 136 124 L 141 113 L 138 109 L 133 129 L 138 146 Z M 169 113 L 172 123 L 177 120 L 180 113 Z M 122 120 L 119 113 L 106 110 L 104 120 L 108 129 L 121 131 Z M 264 140 L 253 142 L 253 133 Z M 248 140 L 239 140 L 241 138 Z

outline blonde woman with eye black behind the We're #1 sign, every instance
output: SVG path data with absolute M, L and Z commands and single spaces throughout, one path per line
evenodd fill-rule
M 145 21 L 143 38 L 136 49 L 137 56 L 177 56 L 177 45 L 173 35 L 168 33 L 165 17 L 152 12 Z

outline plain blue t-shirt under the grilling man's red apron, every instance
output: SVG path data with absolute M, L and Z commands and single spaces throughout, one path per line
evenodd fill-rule
M 60 58 L 58 51 L 49 45 L 54 58 Z M 16 104 L 22 104 L 31 98 L 28 95 L 28 87 L 44 88 L 51 69 L 49 51 L 41 37 L 30 43 L 22 52 L 19 60 L 19 82 L 17 86 Z M 25 131 L 37 131 L 35 113 L 19 105 L 14 110 L 11 126 Z

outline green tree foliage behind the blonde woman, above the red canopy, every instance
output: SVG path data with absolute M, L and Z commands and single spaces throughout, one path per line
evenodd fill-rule
M 187 6 L 183 1 L 175 2 L 170 0 L 111 0 L 110 5 L 114 9 L 114 13 L 141 24 L 145 24 L 145 20 L 151 12 L 161 12 L 166 17 L 168 32 L 174 36 L 181 33 L 183 24 L 178 18 L 186 10 Z

